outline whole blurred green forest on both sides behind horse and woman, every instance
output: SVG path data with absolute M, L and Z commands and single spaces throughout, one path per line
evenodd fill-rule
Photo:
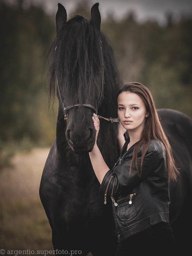
M 90 18 L 89 2 L 81 2 L 71 13 L 75 14 Z M 49 16 L 40 7 L 31 5 L 24 9 L 22 1 L 15 6 L 0 2 L 0 139 L 3 144 L 28 138 L 36 145 L 50 146 L 54 140 L 58 102 L 54 105 L 55 114 L 48 112 L 47 70 L 42 73 L 45 54 L 55 37 L 54 19 L 55 16 Z M 120 21 L 108 16 L 101 23 L 114 49 L 124 84 L 141 82 L 151 90 L 157 108 L 173 108 L 190 117 L 191 27 L 191 17 L 173 21 L 169 14 L 163 27 L 155 21 L 139 23 L 133 12 Z

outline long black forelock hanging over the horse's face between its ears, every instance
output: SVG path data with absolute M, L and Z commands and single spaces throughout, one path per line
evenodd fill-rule
M 66 105 L 93 104 L 93 99 L 98 98 L 98 94 L 102 95 L 103 90 L 100 33 L 88 19 L 80 18 L 68 21 L 52 47 L 50 78 L 52 80 L 55 71 Z

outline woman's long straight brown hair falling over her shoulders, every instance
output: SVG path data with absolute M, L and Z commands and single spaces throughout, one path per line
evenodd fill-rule
M 148 113 L 148 117 L 146 117 L 145 119 L 146 123 L 145 123 L 144 129 L 141 132 L 140 140 L 135 145 L 133 150 L 133 157 L 132 157 L 132 162 L 130 166 L 130 175 L 131 175 L 133 166 L 136 167 L 136 170 L 139 176 L 141 175 L 143 158 L 148 150 L 150 140 L 154 139 L 154 140 L 161 141 L 164 144 L 164 147 L 166 149 L 167 171 L 168 171 L 169 180 L 177 180 L 177 174 L 179 174 L 179 171 L 175 166 L 171 145 L 169 144 L 169 141 L 159 121 L 159 117 L 156 111 L 155 103 L 154 103 L 151 92 L 143 84 L 140 84 L 137 82 L 125 84 L 123 88 L 119 90 L 117 97 L 122 92 L 132 92 L 140 96 L 140 98 L 145 103 L 146 110 Z M 138 155 L 138 149 L 140 148 L 141 145 L 142 145 L 142 155 L 141 155 L 141 163 L 140 163 L 140 169 L 139 169 L 137 164 L 137 155 Z

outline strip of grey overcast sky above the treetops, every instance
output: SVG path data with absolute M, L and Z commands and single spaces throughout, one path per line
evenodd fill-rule
M 14 2 L 15 0 L 5 0 Z M 27 3 L 42 4 L 44 10 L 50 14 L 57 12 L 57 4 L 61 3 L 67 10 L 68 16 L 74 12 L 75 6 L 82 0 L 24 0 Z M 164 22 L 165 13 L 172 12 L 174 17 L 181 14 L 192 15 L 192 0 L 88 0 L 90 10 L 93 4 L 99 2 L 99 10 L 104 20 L 108 14 L 116 19 L 122 19 L 130 11 L 134 11 L 138 20 L 156 19 Z

